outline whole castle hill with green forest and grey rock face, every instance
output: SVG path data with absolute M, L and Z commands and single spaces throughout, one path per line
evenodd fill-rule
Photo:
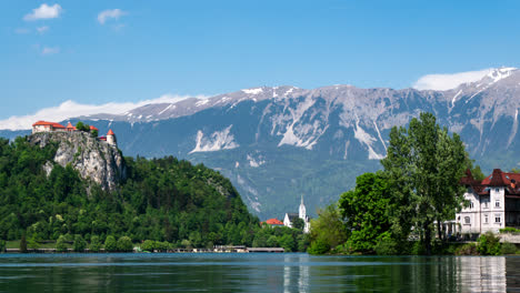
M 202 164 L 122 158 L 84 132 L 0 139 L 0 239 L 251 245 L 254 229 L 230 181 Z

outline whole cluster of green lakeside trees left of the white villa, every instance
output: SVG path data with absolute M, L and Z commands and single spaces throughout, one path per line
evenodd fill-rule
M 356 188 L 311 223 L 311 253 L 441 254 L 442 222 L 466 204 L 459 182 L 467 168 L 483 178 L 457 133 L 421 113 L 392 128 L 382 171 L 357 178 Z

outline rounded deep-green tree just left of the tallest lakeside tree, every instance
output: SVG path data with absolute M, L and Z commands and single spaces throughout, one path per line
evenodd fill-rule
M 391 228 L 390 192 L 382 172 L 364 173 L 356 179 L 356 188 L 341 194 L 339 206 L 353 251 L 374 252 L 384 232 Z

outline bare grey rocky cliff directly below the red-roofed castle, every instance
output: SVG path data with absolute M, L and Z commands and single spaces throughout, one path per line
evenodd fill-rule
M 29 135 L 28 140 L 40 148 L 51 142 L 58 143 L 53 161 L 62 166 L 71 164 L 81 178 L 93 181 L 103 190 L 113 190 L 127 175 L 121 152 L 89 133 L 40 132 Z M 44 165 L 48 173 L 52 165 L 52 162 Z

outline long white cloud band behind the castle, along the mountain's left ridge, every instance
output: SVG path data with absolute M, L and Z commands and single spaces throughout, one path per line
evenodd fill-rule
M 140 102 L 126 102 L 126 103 L 106 103 L 106 104 L 82 104 L 71 100 L 62 102 L 58 107 L 44 108 L 34 114 L 10 117 L 6 120 L 0 120 L 0 129 L 22 130 L 30 129 L 32 123 L 38 120 L 47 121 L 63 121 L 70 118 L 90 114 L 121 114 L 134 108 L 142 107 L 151 103 L 174 103 L 193 95 L 173 95 L 163 94 L 157 99 L 144 100 Z M 196 95 L 198 99 L 207 99 L 207 95 Z

